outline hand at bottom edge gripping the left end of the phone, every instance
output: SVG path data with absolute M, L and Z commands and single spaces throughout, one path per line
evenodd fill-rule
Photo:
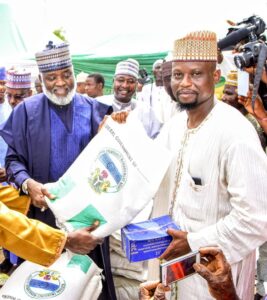
M 139 300 L 150 300 L 151 297 L 154 300 L 165 300 L 165 292 L 169 290 L 168 286 L 164 286 L 159 281 L 147 281 L 140 284 Z

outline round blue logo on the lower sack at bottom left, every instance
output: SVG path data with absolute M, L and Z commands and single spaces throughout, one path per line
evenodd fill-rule
M 47 299 L 61 294 L 65 287 L 66 282 L 59 272 L 46 269 L 33 272 L 27 278 L 24 290 L 32 298 Z

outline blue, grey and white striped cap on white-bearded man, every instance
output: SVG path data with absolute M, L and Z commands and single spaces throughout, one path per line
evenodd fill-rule
M 41 73 L 62 70 L 72 66 L 69 45 L 62 43 L 53 45 L 49 41 L 46 49 L 35 54 L 36 62 Z

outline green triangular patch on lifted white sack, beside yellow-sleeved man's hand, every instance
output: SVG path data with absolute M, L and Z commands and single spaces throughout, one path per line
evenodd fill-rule
M 79 229 L 85 226 L 91 226 L 96 220 L 100 222 L 100 226 L 107 223 L 99 211 L 90 204 L 67 222 L 70 223 L 74 229 Z

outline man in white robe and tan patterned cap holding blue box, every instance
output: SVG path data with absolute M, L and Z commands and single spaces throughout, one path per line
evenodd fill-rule
M 255 249 L 267 240 L 267 159 L 251 124 L 215 98 L 216 61 L 213 32 L 175 41 L 171 88 L 182 112 L 157 137 L 174 157 L 153 217 L 169 209 L 182 229 L 168 230 L 173 241 L 161 258 L 218 246 L 231 264 L 238 296 L 252 299 Z M 197 275 L 177 285 L 179 299 L 211 299 Z

